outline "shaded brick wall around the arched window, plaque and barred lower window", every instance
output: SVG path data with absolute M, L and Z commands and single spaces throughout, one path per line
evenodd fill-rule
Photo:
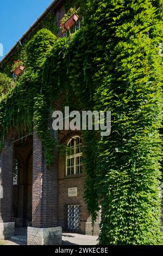
M 71 133 L 70 131 L 62 132 L 59 134 L 60 143 L 67 144 L 72 136 L 79 135 L 79 133 Z M 79 204 L 80 205 L 80 233 L 86 233 L 86 222 L 88 221 L 91 224 L 91 219 L 89 218 L 87 212 L 87 206 L 84 200 L 84 179 L 85 172 L 83 174 L 69 175 L 66 176 L 66 156 L 65 154 L 59 155 L 58 160 L 58 225 L 61 225 L 63 228 L 66 225 L 66 205 L 70 204 Z M 68 188 L 78 188 L 78 197 L 68 197 Z M 99 216 L 97 219 L 99 222 Z M 90 226 L 91 227 L 91 226 Z M 91 233 L 92 234 L 92 233 Z M 90 235 L 91 235 L 90 234 Z

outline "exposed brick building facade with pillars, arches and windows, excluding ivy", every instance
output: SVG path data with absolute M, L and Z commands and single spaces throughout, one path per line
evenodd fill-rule
M 55 0 L 39 22 L 53 11 L 59 25 L 65 13 L 64 2 Z M 50 118 L 49 127 L 52 129 Z M 52 133 L 59 144 L 74 146 L 79 138 L 80 144 L 83 143 L 79 132 L 69 130 L 58 134 L 52 130 Z M 29 245 L 60 244 L 62 230 L 92 235 L 84 200 L 82 152 L 74 152 L 70 157 L 58 151 L 54 154 L 55 162 L 49 169 L 35 131 L 20 138 L 14 128 L 9 130 L 0 152 L 0 239 L 14 235 L 15 227 L 28 227 Z M 99 234 L 100 218 L 99 211 L 93 235 Z

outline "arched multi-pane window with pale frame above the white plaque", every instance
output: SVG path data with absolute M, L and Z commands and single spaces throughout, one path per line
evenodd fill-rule
M 82 154 L 82 140 L 74 136 L 67 144 L 66 176 L 83 172 Z

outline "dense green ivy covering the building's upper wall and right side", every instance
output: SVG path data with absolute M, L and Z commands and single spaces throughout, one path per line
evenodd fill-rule
M 1 97 L 1 145 L 9 127 L 34 126 L 51 165 L 56 142 L 47 118 L 55 100 L 64 96 L 64 105 L 76 110 L 111 111 L 110 136 L 83 132 L 85 199 L 94 222 L 102 205 L 99 243 L 163 244 L 162 1 L 80 0 L 79 5 L 84 23 L 71 37 L 57 39 L 45 27 L 17 51 L 26 71 Z M 0 85 L 9 88 L 5 74 Z

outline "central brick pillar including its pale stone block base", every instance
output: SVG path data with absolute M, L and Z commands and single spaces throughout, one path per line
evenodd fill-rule
M 53 132 L 57 138 L 57 134 Z M 58 226 L 58 157 L 49 169 L 42 152 L 42 142 L 33 134 L 32 227 L 28 228 L 28 245 L 59 245 Z

